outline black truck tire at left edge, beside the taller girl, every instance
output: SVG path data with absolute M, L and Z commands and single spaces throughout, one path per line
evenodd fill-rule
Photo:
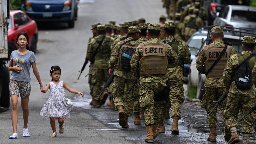
M 10 73 L 8 67 L 2 67 L 1 69 L 1 96 L 0 106 L 8 108 L 10 107 L 10 92 L 9 92 L 9 80 Z

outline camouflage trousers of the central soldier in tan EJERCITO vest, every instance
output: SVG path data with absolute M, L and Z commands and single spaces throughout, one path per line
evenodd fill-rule
M 159 93 L 165 88 L 157 82 L 140 82 L 140 106 L 144 109 L 145 125 L 153 125 L 160 121 L 161 101 L 154 101 L 154 93 Z

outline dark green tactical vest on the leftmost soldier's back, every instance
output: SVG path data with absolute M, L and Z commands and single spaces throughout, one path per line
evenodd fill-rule
M 103 40 L 101 46 L 99 47 L 97 54 L 95 55 L 95 59 L 102 59 L 103 57 L 111 57 L 111 43 L 110 43 L 111 37 L 106 36 Z M 95 38 L 97 43 L 100 43 L 102 39 Z

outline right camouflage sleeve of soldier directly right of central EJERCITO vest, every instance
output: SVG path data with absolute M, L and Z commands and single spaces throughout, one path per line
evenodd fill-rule
M 182 60 L 182 62 L 180 63 L 184 63 L 187 64 L 190 61 L 190 50 L 188 49 L 188 45 L 186 44 L 186 42 L 184 41 L 180 41 L 179 42 L 179 47 L 178 47 L 178 57 L 180 58 L 180 60 Z

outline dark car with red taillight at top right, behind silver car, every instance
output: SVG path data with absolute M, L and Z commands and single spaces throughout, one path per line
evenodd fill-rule
M 213 0 L 208 8 L 208 25 L 213 25 L 217 12 L 221 12 L 226 5 L 250 5 L 248 0 Z

